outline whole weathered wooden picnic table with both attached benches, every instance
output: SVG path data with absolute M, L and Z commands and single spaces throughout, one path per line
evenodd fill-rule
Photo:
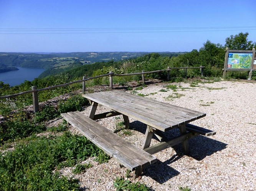
M 205 117 L 203 112 L 116 90 L 83 94 L 83 97 L 89 99 L 92 105 L 89 117 L 79 111 L 61 113 L 61 116 L 120 165 L 135 171 L 133 180 L 142 175 L 143 168 L 157 161 L 152 154 L 179 143 L 182 143 L 183 152 L 188 154 L 188 139 L 199 134 L 216 134 L 215 131 L 190 124 L 193 120 Z M 110 111 L 95 115 L 98 104 L 108 107 Z M 126 128 L 130 126 L 129 117 L 147 125 L 142 148 L 95 121 L 116 115 L 123 116 Z M 173 128 L 179 128 L 180 135 L 166 138 L 165 132 Z M 154 134 L 160 143 L 150 146 Z

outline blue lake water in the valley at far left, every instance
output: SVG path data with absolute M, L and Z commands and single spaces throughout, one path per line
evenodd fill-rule
M 33 81 L 45 71 L 42 68 L 17 68 L 19 70 L 0 73 L 0 81 L 10 86 L 17 86 L 24 83 L 25 80 Z

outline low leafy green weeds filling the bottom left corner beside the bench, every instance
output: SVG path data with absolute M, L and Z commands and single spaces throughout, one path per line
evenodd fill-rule
M 73 161 L 74 165 L 99 152 L 84 136 L 68 132 L 27 139 L 0 155 L 0 190 L 78 190 L 77 180 L 59 177 L 53 170 L 64 161 Z

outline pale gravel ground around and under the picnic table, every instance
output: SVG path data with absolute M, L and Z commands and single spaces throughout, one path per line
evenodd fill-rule
M 197 136 L 190 139 L 190 156 L 177 155 L 181 146 L 165 149 L 154 154 L 159 161 L 145 168 L 139 181 L 152 190 L 179 190 L 182 186 L 194 190 L 256 190 L 256 83 L 220 81 L 215 83 L 172 83 L 177 91 L 167 89 L 169 83 L 157 83 L 135 90 L 135 94 L 156 99 L 206 113 L 206 117 L 193 124 L 216 131 L 216 135 Z M 166 92 L 160 91 L 165 89 Z M 132 91 L 128 91 L 132 92 Z M 155 94 L 150 94 L 155 93 Z M 175 98 L 176 97 L 176 98 Z M 89 107 L 83 113 L 88 115 Z M 99 105 L 97 113 L 106 112 Z M 101 125 L 115 131 L 121 117 L 97 120 Z M 146 126 L 130 118 L 132 135 L 119 134 L 138 147 L 142 146 Z M 71 127 L 71 131 L 76 130 Z M 172 131 L 177 134 L 178 131 Z M 155 139 L 152 144 L 157 143 Z M 78 178 L 81 188 L 87 190 L 115 190 L 116 177 L 126 177 L 126 168 L 120 168 L 111 159 L 108 163 L 97 164 L 93 158 L 85 173 L 74 175 L 72 168 L 61 173 Z M 131 178 L 128 178 L 130 181 Z

